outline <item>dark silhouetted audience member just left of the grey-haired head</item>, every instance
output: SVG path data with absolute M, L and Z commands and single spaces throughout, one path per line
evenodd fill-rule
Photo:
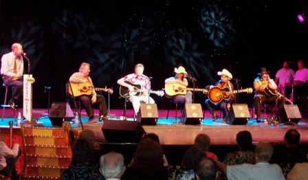
M 98 164 L 93 164 L 95 150 L 93 142 L 78 139 L 72 146 L 72 165 L 65 169 L 60 179 L 103 179 Z

